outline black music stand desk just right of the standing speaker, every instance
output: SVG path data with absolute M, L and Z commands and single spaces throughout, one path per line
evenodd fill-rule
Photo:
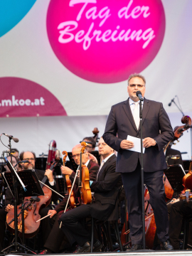
M 164 171 L 166 178 L 168 178 L 171 187 L 176 193 L 183 191 L 182 179 L 186 175 L 181 164 L 172 164 Z

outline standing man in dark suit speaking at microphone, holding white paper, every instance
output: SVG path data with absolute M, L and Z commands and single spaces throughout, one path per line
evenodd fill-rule
M 127 196 L 132 251 L 141 250 L 143 243 L 141 153 L 132 151 L 134 143 L 127 140 L 127 136 L 141 137 L 137 91 L 144 97 L 145 89 L 146 80 L 142 75 L 129 76 L 129 98 L 112 106 L 103 135 L 105 142 L 118 152 L 116 171 L 122 174 Z M 145 98 L 142 101 L 142 131 L 145 148 L 144 183 L 149 190 L 149 203 L 154 210 L 157 235 L 164 250 L 173 250 L 169 242 L 169 219 L 164 198 L 163 174 L 166 161 L 163 147 L 174 138 L 174 132 L 161 102 Z

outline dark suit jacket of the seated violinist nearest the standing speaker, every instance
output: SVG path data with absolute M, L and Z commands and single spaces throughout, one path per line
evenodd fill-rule
M 116 156 L 111 156 L 100 169 L 97 181 L 90 188 L 94 193 L 95 203 L 92 203 L 91 215 L 99 220 L 117 220 L 118 195 L 122 188 L 121 174 L 115 172 Z

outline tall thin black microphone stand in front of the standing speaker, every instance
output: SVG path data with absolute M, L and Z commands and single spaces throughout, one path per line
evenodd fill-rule
M 145 216 L 144 216 L 144 160 L 143 160 L 143 130 L 142 130 L 142 101 L 139 102 L 139 117 L 140 117 L 140 131 L 141 131 L 141 183 L 142 183 L 142 224 L 143 224 L 143 248 L 145 245 Z

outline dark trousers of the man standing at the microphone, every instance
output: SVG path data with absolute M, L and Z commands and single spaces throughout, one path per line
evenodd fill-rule
M 163 174 L 164 171 L 144 172 L 144 183 L 150 196 L 149 203 L 154 210 L 156 233 L 161 242 L 169 239 L 169 218 L 165 202 Z M 142 187 L 139 161 L 135 171 L 122 174 L 122 182 L 127 196 L 130 238 L 132 244 L 142 245 Z

